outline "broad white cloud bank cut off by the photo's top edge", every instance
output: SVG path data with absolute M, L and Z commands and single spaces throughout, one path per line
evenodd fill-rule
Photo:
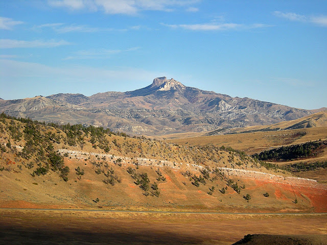
M 106 14 L 135 15 L 143 10 L 173 11 L 188 7 L 201 0 L 48 0 L 52 7 L 69 10 L 104 11 Z M 195 8 L 193 9 L 195 10 Z

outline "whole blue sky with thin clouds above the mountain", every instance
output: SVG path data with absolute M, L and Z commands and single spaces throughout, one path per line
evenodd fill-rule
M 0 1 L 0 97 L 92 95 L 167 76 L 327 106 L 326 1 Z

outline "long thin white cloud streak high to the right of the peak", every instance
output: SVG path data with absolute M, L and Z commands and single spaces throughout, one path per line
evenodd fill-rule
M 238 23 L 202 23 L 202 24 L 165 24 L 163 26 L 173 29 L 185 29 L 191 31 L 223 31 L 223 30 L 241 30 L 271 27 L 268 24 L 238 24 Z

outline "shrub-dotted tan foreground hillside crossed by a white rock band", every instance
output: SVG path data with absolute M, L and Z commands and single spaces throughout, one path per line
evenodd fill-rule
M 5 114 L 0 134 L 1 207 L 321 211 L 316 199 L 327 198 L 324 186 L 231 148 Z

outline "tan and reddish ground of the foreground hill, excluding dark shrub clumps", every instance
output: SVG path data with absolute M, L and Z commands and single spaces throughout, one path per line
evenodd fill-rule
M 128 138 L 105 135 L 110 146 L 106 154 L 94 148 L 90 136 L 83 135 L 85 144 L 75 146 L 65 143 L 65 133 L 60 129 L 38 125 L 40 134 L 59 135 L 54 148 L 63 156 L 64 165 L 71 169 L 65 182 L 60 172 L 49 170 L 47 174 L 32 176 L 37 168 L 36 158 L 29 160 L 19 154 L 25 139 L 16 141 L 14 125 L 23 132 L 24 123 L 4 119 L 0 122 L 0 143 L 5 152 L 0 156 L 0 207 L 55 207 L 116 210 L 191 210 L 219 212 L 324 212 L 326 185 L 311 180 L 291 178 L 290 173 L 267 169 L 252 158 L 237 153 L 220 151 L 211 146 L 176 145 L 145 138 Z M 54 137 L 54 136 L 53 136 Z M 7 146 L 8 140 L 16 149 Z M 96 142 L 99 145 L 98 142 Z M 120 164 L 117 163 L 120 159 Z M 34 166 L 29 164 L 34 162 Z M 78 178 L 76 169 L 84 170 Z M 127 173 L 131 167 L 138 174 L 147 173 L 150 184 L 145 192 L 136 180 Z M 217 168 L 218 174 L 214 174 Z M 165 177 L 158 180 L 157 169 Z M 201 170 L 209 169 L 208 176 L 198 186 L 196 178 L 204 178 Z M 105 183 L 108 171 L 121 181 L 113 185 Z M 189 171 L 189 172 L 187 172 Z M 186 174 L 188 173 L 188 174 Z M 107 175 L 107 176 L 106 176 Z M 240 193 L 229 184 L 234 181 Z M 156 197 L 151 184 L 157 183 Z M 208 193 L 210 189 L 215 190 Z M 268 192 L 269 197 L 264 197 Z M 251 199 L 246 201 L 249 194 Z M 283 197 L 283 198 L 280 198 Z M 97 199 L 99 201 L 95 202 Z M 297 200 L 297 203 L 295 203 Z

